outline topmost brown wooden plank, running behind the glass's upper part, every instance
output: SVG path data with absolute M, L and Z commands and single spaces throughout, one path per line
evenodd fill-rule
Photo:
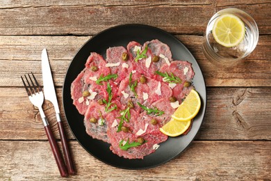
M 27 1 L 0 8 L 0 35 L 93 35 L 111 26 L 140 23 L 170 33 L 203 34 L 208 20 L 221 8 L 236 6 L 251 14 L 261 34 L 270 34 L 270 1 L 92 1 L 74 3 Z M 265 11 L 262 9 L 265 8 Z M 261 12 L 261 13 L 258 13 Z M 155 21 L 153 20 L 155 19 Z

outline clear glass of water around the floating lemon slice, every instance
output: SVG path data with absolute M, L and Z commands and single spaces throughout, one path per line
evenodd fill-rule
M 236 15 L 245 24 L 245 38 L 234 47 L 224 47 L 213 38 L 212 29 L 215 20 L 224 14 Z M 215 13 L 208 22 L 204 41 L 202 44 L 204 55 L 215 65 L 229 67 L 236 65 L 240 60 L 247 57 L 255 49 L 258 43 L 258 26 L 254 19 L 238 8 L 226 8 Z

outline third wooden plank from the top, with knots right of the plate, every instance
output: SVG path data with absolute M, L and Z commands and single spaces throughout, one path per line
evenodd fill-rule
M 57 89 L 62 105 L 62 90 Z M 13 93 L 14 97 L 10 97 Z M 207 109 L 197 140 L 271 140 L 271 88 L 208 88 Z M 26 96 L 24 88 L 0 88 L 0 138 L 2 140 L 46 140 L 38 109 Z M 54 107 L 45 101 L 45 115 L 59 139 Z M 63 109 L 67 137 L 74 139 Z M 80 121 L 80 120 L 79 120 Z M 82 120 L 83 121 L 83 120 Z M 83 130 L 84 131 L 84 130 Z

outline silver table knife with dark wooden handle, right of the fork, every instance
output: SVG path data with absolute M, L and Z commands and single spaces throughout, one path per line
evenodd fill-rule
M 43 91 L 45 100 L 49 100 L 56 111 L 56 120 L 58 123 L 58 131 L 60 134 L 61 144 L 63 146 L 63 152 L 65 156 L 65 162 L 67 164 L 67 170 L 69 175 L 75 175 L 75 170 L 72 161 L 72 155 L 69 151 L 69 145 L 67 144 L 67 137 L 65 134 L 65 129 L 63 122 L 60 118 L 60 111 L 58 107 L 58 100 L 56 99 L 56 91 L 54 88 L 54 81 L 51 75 L 51 68 L 49 64 L 49 59 L 47 55 L 47 49 L 42 50 L 42 79 L 43 79 Z

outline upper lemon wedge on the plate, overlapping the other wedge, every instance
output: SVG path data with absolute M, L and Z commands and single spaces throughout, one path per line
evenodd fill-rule
M 173 113 L 172 118 L 180 121 L 188 121 L 195 118 L 199 112 L 201 101 L 199 94 L 195 90 L 191 90 L 186 99 L 179 105 L 178 109 Z

